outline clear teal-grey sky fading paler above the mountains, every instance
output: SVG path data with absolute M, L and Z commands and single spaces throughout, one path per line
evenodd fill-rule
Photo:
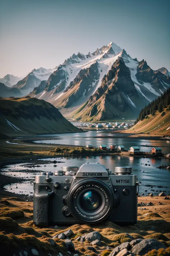
M 169 0 L 0 0 L 0 77 L 54 68 L 115 42 L 170 71 Z

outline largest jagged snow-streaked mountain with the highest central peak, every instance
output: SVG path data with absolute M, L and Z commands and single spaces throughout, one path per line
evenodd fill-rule
M 136 117 L 170 86 L 170 77 L 131 58 L 110 42 L 93 53 L 73 54 L 30 94 L 66 117 L 83 121 Z

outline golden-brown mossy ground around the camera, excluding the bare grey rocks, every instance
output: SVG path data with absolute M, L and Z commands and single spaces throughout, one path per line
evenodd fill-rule
M 82 256 L 87 254 L 90 256 L 106 256 L 119 244 L 137 238 L 155 238 L 164 243 L 166 247 L 170 246 L 170 205 L 169 200 L 163 200 L 163 198 L 139 197 L 138 202 L 147 203 L 152 201 L 154 206 L 147 206 L 147 210 L 139 210 L 140 207 L 138 207 L 138 223 L 135 225 L 119 226 L 106 221 L 103 224 L 93 226 L 76 224 L 68 227 L 37 228 L 32 220 L 32 202 L 24 202 L 20 198 L 4 196 L 3 192 L 0 197 L 0 244 L 3 255 L 19 255 L 21 251 L 27 251 L 28 255 L 32 255 L 30 251 L 34 248 L 41 256 L 49 255 L 48 253 L 51 256 L 56 256 L 59 252 L 64 256 L 69 256 L 64 239 L 54 238 L 53 241 L 51 239 L 56 234 L 68 229 L 74 232 L 70 239 L 74 243 L 75 249 L 79 250 L 79 255 Z M 158 205 L 159 201 L 164 205 Z M 149 214 L 145 215 L 146 213 Z M 156 232 L 150 231 L 153 225 Z M 98 231 L 102 235 L 101 246 L 93 246 L 95 252 L 90 250 L 91 244 L 89 241 L 79 242 L 75 240 L 82 234 L 93 231 Z M 107 246 L 110 246 L 110 249 L 107 249 Z M 160 254 L 156 253 L 155 250 L 155 253 L 149 255 L 167 256 L 169 252 L 169 249 L 164 249 Z M 148 256 L 148 254 L 145 256 Z

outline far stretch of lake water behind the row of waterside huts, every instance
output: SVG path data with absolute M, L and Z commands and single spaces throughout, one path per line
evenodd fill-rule
M 67 134 L 47 134 L 39 135 L 39 137 L 52 137 L 48 140 L 35 140 L 34 143 L 43 144 L 67 144 L 67 145 L 82 145 L 92 144 L 94 147 L 99 147 L 100 144 L 106 144 L 110 147 L 110 144 L 115 143 L 123 145 L 125 149 L 129 149 L 132 146 L 139 146 L 141 150 L 148 151 L 153 146 L 161 147 L 162 153 L 170 153 L 170 140 L 154 140 L 154 139 L 134 139 L 133 137 L 127 138 L 127 134 L 121 134 L 124 138 L 120 137 L 120 134 L 110 134 L 105 131 L 88 131 L 86 133 L 67 133 Z M 38 137 L 38 136 L 37 136 Z M 101 138 L 103 137 L 103 138 Z

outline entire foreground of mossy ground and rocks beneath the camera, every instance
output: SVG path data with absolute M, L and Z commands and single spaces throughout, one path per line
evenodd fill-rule
M 0 250 L 5 256 L 168 256 L 170 199 L 138 197 L 138 223 L 119 226 L 33 224 L 33 203 L 0 194 Z

